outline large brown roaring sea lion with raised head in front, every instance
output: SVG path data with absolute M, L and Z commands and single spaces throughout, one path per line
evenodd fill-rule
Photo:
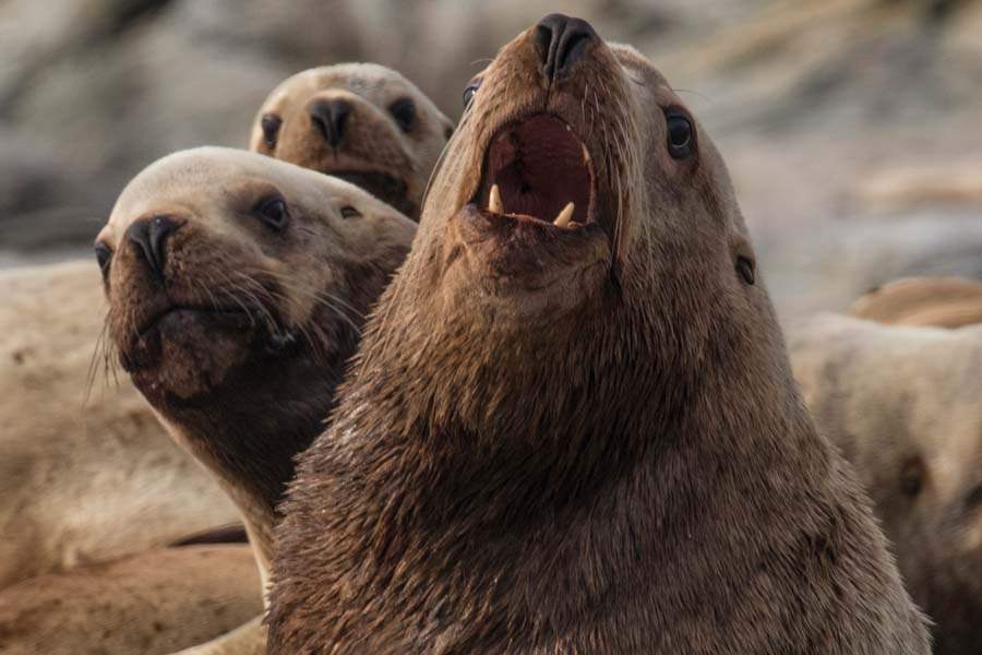
M 726 167 L 553 14 L 465 93 L 277 529 L 271 653 L 927 653 Z

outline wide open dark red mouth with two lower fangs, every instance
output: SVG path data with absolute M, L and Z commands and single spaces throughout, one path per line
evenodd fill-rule
M 594 222 L 594 167 L 586 144 L 539 114 L 491 140 L 475 202 L 489 214 L 577 229 Z

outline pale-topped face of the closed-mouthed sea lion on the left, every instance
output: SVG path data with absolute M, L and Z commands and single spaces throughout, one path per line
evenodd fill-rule
M 108 335 L 155 405 L 262 386 L 357 340 L 363 287 L 402 261 L 414 229 L 290 164 L 225 148 L 165 157 L 96 241 Z

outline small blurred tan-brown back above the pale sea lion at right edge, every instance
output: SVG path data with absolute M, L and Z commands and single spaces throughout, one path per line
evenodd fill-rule
M 982 322 L 982 283 L 961 277 L 906 277 L 869 291 L 849 313 L 877 323 L 960 327 Z

